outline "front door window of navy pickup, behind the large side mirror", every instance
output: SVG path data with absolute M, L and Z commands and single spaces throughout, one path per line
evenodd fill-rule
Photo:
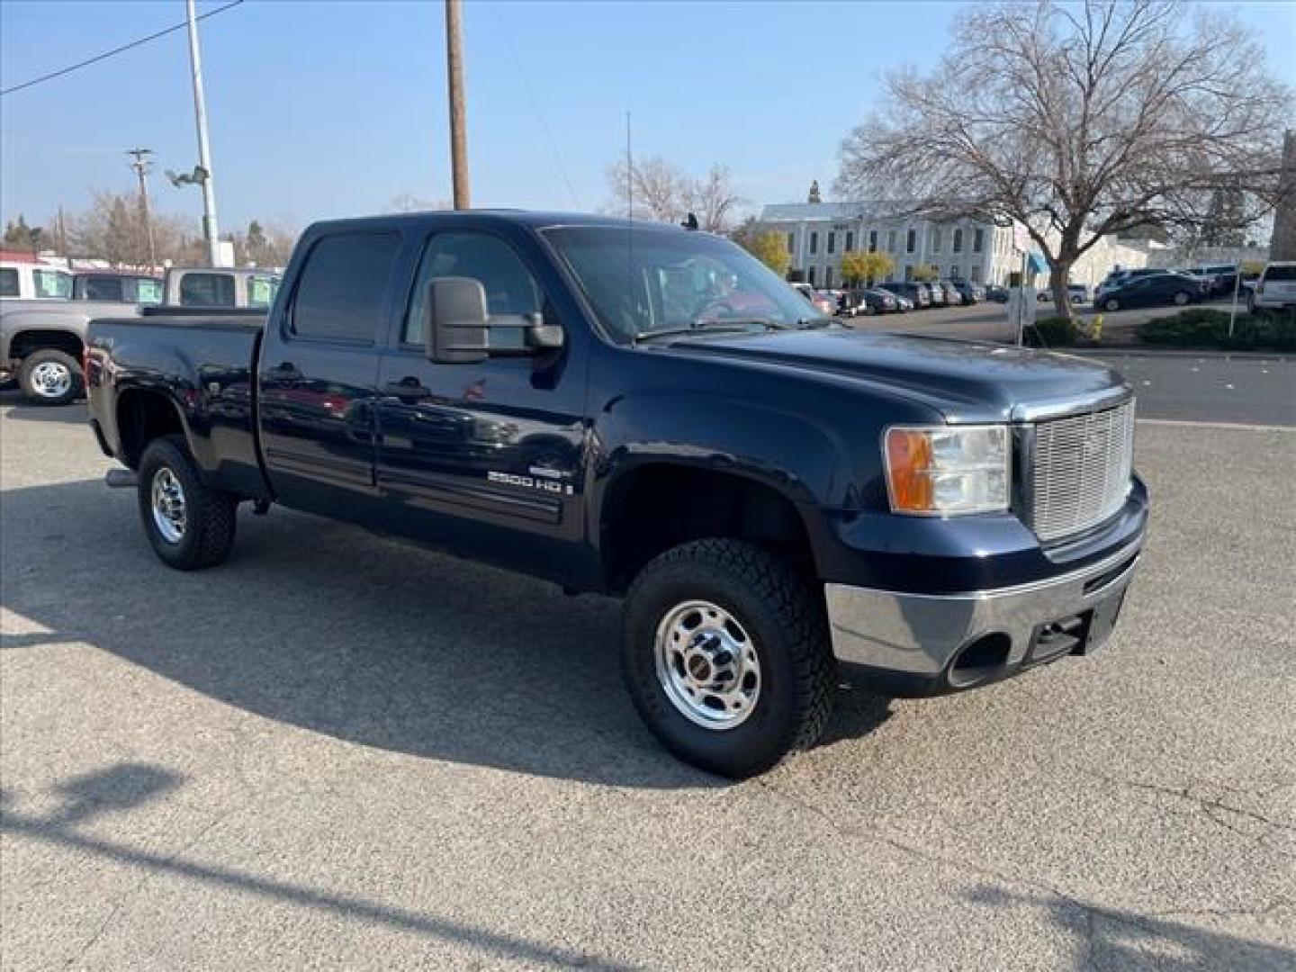
M 428 286 L 438 277 L 472 277 L 486 292 L 486 314 L 491 318 L 516 318 L 539 314 L 543 305 L 540 288 L 522 258 L 503 240 L 487 233 L 437 233 L 428 244 L 419 264 L 410 312 L 406 315 L 402 340 L 421 345 L 422 315 Z M 521 347 L 520 328 L 500 328 L 490 336 L 495 347 Z

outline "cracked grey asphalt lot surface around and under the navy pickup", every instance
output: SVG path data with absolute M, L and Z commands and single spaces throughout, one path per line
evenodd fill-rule
M 1100 654 L 735 785 L 616 603 L 281 511 L 174 573 L 80 406 L 0 411 L 4 969 L 1296 966 L 1296 430 L 1140 424 Z

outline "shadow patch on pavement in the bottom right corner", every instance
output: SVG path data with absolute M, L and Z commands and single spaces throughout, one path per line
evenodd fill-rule
M 968 898 L 988 907 L 1042 911 L 1059 928 L 1085 943 L 1077 969 L 1188 969 L 1296 968 L 1296 951 L 1235 934 L 1187 925 L 1169 916 L 1139 915 L 1096 907 L 1058 894 L 1024 894 L 980 885 Z M 1221 916 L 1230 912 L 1222 912 Z M 1258 912 L 1256 912 L 1258 914 Z

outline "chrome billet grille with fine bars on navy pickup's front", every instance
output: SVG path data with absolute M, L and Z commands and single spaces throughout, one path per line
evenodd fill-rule
M 1034 426 L 1029 451 L 1030 529 L 1052 540 L 1115 515 L 1134 464 L 1134 402 Z

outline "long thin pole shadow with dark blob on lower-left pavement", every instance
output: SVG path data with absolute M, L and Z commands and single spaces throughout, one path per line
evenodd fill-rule
M 3 806 L 0 832 L 10 840 L 21 837 L 53 844 L 78 854 L 126 864 L 145 874 L 170 875 L 223 892 L 285 902 L 338 918 L 380 923 L 403 932 L 481 950 L 498 959 L 557 968 L 578 966 L 597 969 L 626 968 L 626 966 L 573 949 L 491 932 L 419 911 L 390 907 L 368 898 L 334 894 L 321 888 L 263 877 L 248 870 L 188 861 L 175 854 L 153 853 L 89 835 L 79 828 L 80 824 L 91 822 L 101 814 L 126 813 L 157 800 L 166 792 L 180 787 L 183 781 L 183 778 L 161 767 L 119 763 L 61 784 L 58 793 L 64 798 L 62 807 L 40 816 L 16 813 L 13 794 L 0 792 L 0 806 Z

